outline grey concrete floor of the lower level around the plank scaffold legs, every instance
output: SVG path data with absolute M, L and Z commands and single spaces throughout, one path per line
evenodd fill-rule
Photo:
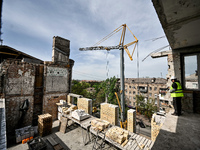
M 53 150 L 53 147 L 46 140 L 48 137 L 52 137 L 56 142 L 58 142 L 65 150 L 89 150 L 93 147 L 93 142 L 84 145 L 82 138 L 82 131 L 86 134 L 86 130 L 82 130 L 82 128 L 69 122 L 70 126 L 66 129 L 66 133 L 59 132 L 59 121 L 53 122 L 52 134 L 43 137 L 44 141 L 47 144 L 48 150 Z M 28 144 L 15 144 L 12 147 L 9 147 L 8 150 L 27 150 Z M 117 150 L 117 148 L 113 147 L 109 143 L 106 143 L 104 149 L 106 150 Z

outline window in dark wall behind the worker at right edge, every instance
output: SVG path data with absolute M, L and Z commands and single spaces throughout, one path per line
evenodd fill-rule
M 184 56 L 184 83 L 186 89 L 200 89 L 199 88 L 199 74 L 200 55 Z

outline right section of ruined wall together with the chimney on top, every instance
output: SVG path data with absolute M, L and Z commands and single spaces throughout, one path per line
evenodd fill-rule
M 67 100 L 70 93 L 72 67 L 74 61 L 69 59 L 70 41 L 61 37 L 53 37 L 52 62 L 44 63 L 44 96 L 43 113 L 50 113 L 57 119 L 59 100 Z

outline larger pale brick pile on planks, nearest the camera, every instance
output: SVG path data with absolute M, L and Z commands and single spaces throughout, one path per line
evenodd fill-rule
M 110 138 L 111 140 L 119 144 L 122 144 L 123 142 L 127 143 L 128 131 L 119 127 L 113 127 L 106 132 L 106 137 Z

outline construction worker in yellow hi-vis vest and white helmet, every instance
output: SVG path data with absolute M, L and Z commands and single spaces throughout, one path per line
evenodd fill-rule
M 174 113 L 172 115 L 180 116 L 181 115 L 181 98 L 183 95 L 183 90 L 180 82 L 177 80 L 175 76 L 171 77 L 172 85 L 170 87 L 171 97 L 173 97 L 173 106 Z

